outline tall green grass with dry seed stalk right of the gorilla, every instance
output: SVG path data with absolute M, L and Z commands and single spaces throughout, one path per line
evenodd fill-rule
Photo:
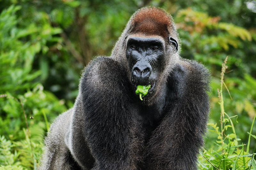
M 250 132 L 248 132 L 248 143 L 240 143 L 240 139 L 237 138 L 236 129 L 234 127 L 233 118 L 235 116 L 229 116 L 225 112 L 224 100 L 223 100 L 223 87 L 228 91 L 227 85 L 224 82 L 224 76 L 227 66 L 228 57 L 222 64 L 220 74 L 220 89 L 218 89 L 219 104 L 220 104 L 220 128 L 217 123 L 209 123 L 209 132 L 217 134 L 217 139 L 210 149 L 205 148 L 199 157 L 199 169 L 201 170 L 256 170 L 255 149 L 252 153 L 249 151 L 249 145 L 251 137 L 256 139 L 256 136 L 252 135 L 252 129 L 254 125 L 254 119 L 252 121 Z M 230 92 L 228 91 L 229 95 Z M 231 95 L 230 95 L 231 98 Z M 231 98 L 232 100 L 232 98 Z M 231 130 L 229 130 L 231 128 Z

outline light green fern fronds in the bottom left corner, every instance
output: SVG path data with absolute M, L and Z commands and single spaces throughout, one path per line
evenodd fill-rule
M 37 128 L 41 135 L 32 133 L 31 138 L 28 131 L 23 129 L 26 138 L 18 142 L 6 140 L 0 136 L 0 170 L 6 169 L 36 169 L 40 159 L 44 135 L 41 128 Z

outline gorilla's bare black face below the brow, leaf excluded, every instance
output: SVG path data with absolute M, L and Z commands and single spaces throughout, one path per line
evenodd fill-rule
M 151 37 L 130 37 L 126 46 L 126 58 L 134 91 L 137 85 L 151 85 L 145 97 L 152 97 L 156 92 L 157 79 L 164 70 L 164 41 Z

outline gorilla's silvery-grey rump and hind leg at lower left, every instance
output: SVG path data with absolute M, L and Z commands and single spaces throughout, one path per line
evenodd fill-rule
M 59 115 L 52 123 L 50 132 L 45 138 L 44 154 L 41 159 L 40 170 L 75 170 L 79 169 L 72 158 L 64 140 L 71 120 L 72 108 Z

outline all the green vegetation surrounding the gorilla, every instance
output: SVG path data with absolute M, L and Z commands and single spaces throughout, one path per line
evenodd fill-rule
M 255 0 L 0 0 L 0 170 L 37 168 L 50 124 L 74 104 L 80 71 L 110 55 L 147 5 L 174 17 L 180 55 L 212 73 L 199 169 L 256 170 Z

